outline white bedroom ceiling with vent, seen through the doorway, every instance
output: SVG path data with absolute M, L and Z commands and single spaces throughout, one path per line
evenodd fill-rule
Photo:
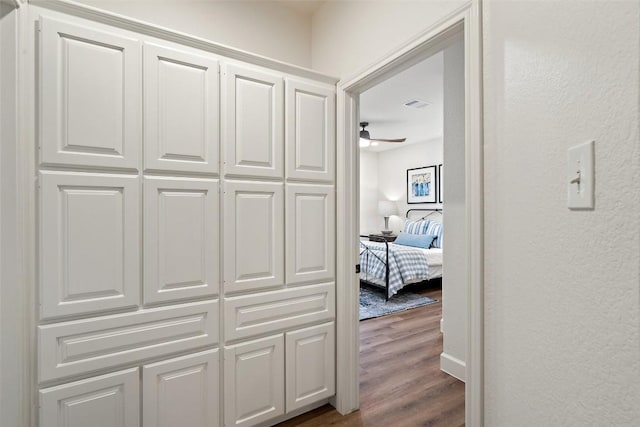
M 360 121 L 369 122 L 371 138 L 407 138 L 379 143 L 364 151 L 385 151 L 442 137 L 443 53 L 439 52 L 360 95 Z M 405 107 L 418 99 L 424 108 Z

